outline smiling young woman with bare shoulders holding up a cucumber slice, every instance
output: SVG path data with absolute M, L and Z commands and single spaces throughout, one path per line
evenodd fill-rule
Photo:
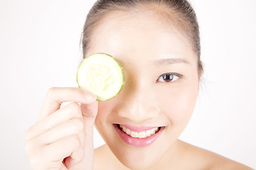
M 82 47 L 84 57 L 117 59 L 124 88 L 100 102 L 82 89 L 49 89 L 26 132 L 32 169 L 250 169 L 178 140 L 203 72 L 196 14 L 186 0 L 97 1 Z M 60 108 L 65 101 L 73 102 Z M 95 150 L 94 125 L 106 142 Z

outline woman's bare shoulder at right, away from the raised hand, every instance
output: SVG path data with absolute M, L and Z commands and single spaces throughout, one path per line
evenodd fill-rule
M 240 164 L 219 154 L 190 145 L 186 142 L 181 142 L 181 145 L 183 145 L 183 148 L 188 151 L 188 154 L 191 154 L 191 157 L 193 157 L 193 162 L 201 162 L 198 164 L 193 163 L 196 169 L 253 170 L 250 167 L 245 166 L 244 164 Z

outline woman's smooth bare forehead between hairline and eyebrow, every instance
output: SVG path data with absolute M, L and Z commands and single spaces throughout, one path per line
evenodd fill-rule
M 120 60 L 124 57 L 144 60 L 144 56 L 147 61 L 166 57 L 195 58 L 185 36 L 171 24 L 159 21 L 152 11 L 107 14 L 92 32 L 88 54 L 95 52 L 105 52 Z

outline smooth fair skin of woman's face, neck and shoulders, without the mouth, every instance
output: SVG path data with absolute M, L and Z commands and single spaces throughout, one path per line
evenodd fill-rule
M 201 76 L 182 31 L 154 11 L 112 12 L 92 35 L 88 54 L 97 51 L 122 64 L 126 81 L 120 94 L 99 103 L 95 126 L 107 145 L 95 150 L 95 169 L 249 169 L 178 140 L 196 105 Z M 183 77 L 163 81 L 161 74 L 169 72 Z M 165 130 L 151 145 L 134 147 L 113 123 Z

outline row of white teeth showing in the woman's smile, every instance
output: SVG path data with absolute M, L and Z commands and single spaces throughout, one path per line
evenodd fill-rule
M 134 132 L 132 130 L 129 130 L 128 128 L 126 128 L 123 125 L 119 125 L 119 127 L 122 129 L 123 132 L 126 132 L 127 135 L 130 135 L 130 136 L 136 137 L 136 138 L 149 137 L 151 135 L 154 135 L 159 130 L 159 128 L 153 128 L 151 130 L 146 130 L 146 131 L 143 131 L 143 132 Z

